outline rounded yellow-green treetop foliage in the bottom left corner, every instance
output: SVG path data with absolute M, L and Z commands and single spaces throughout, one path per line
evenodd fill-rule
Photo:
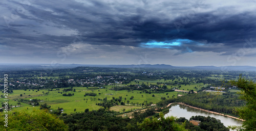
M 1 130 L 68 130 L 64 122 L 45 110 L 34 110 L 32 113 L 26 111 L 14 112 L 8 115 L 8 127 L 4 126 L 4 117 L 0 118 Z

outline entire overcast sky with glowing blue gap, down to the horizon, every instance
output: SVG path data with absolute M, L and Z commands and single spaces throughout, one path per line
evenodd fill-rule
M 255 1 L 1 1 L 0 63 L 256 66 Z

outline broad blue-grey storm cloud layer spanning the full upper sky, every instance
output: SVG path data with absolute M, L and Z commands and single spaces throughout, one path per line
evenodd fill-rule
M 252 12 L 255 9 L 248 11 L 247 7 L 233 3 L 220 7 L 203 1 L 185 4 L 121 0 L 8 1 L 0 4 L 1 11 L 6 12 L 0 21 L 0 44 L 11 47 L 19 43 L 24 50 L 53 47 L 56 51 L 77 41 L 139 47 L 152 40 L 189 39 L 201 45 L 182 43 L 170 49 L 179 50 L 177 54 L 214 51 L 230 55 L 243 47 L 245 39 L 254 39 L 256 34 L 256 16 Z

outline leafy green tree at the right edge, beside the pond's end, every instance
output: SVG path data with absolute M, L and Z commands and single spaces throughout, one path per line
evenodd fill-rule
M 247 103 L 243 107 L 236 108 L 237 114 L 245 120 L 242 126 L 229 127 L 238 130 L 256 130 L 256 83 L 242 78 L 241 74 L 237 82 L 231 81 L 230 83 L 241 90 L 240 99 L 246 100 Z

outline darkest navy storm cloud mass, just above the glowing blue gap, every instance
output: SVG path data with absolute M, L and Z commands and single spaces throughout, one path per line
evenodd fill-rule
M 181 21 L 176 18 L 174 21 Z M 254 38 L 256 34 L 255 15 L 242 13 L 232 16 L 215 16 L 208 14 L 197 14 L 188 19 L 187 24 L 181 24 L 180 31 L 176 30 L 174 22 L 162 24 L 157 20 L 148 20 L 138 25 L 134 25 L 133 30 L 137 31 L 134 35 L 144 40 L 165 41 L 172 39 L 189 39 L 202 44 L 223 43 L 225 46 L 242 47 L 245 39 Z M 207 47 L 207 46 L 205 46 Z M 218 49 L 218 48 L 217 48 Z M 194 50 L 208 51 L 207 48 L 197 48 Z M 216 51 L 214 49 L 214 51 Z

